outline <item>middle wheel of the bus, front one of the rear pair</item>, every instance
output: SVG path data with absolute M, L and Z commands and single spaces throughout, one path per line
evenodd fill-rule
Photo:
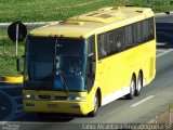
M 130 83 L 130 93 L 125 95 L 127 100 L 133 100 L 134 94 L 135 94 L 135 88 L 136 88 L 136 82 L 135 82 L 135 78 L 133 76 L 131 79 L 131 83 Z

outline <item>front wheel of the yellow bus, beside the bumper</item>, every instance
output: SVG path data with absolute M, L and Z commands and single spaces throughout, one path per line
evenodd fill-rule
M 90 117 L 95 117 L 97 114 L 97 109 L 99 106 L 99 101 L 98 101 L 98 93 L 96 92 L 95 96 L 94 96 L 94 109 L 92 112 L 89 113 Z

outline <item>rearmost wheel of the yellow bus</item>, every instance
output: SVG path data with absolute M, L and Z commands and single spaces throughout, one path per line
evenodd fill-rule
M 142 73 L 139 73 L 137 78 L 136 90 L 135 90 L 136 96 L 141 95 L 142 88 L 143 88 L 143 76 L 142 76 Z

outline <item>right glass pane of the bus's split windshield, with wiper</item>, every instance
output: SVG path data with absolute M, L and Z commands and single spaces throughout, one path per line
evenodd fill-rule
M 55 90 L 85 91 L 85 43 L 83 39 L 57 39 Z

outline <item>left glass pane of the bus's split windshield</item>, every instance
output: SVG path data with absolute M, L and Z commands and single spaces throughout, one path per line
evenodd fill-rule
M 28 37 L 25 60 L 25 84 L 27 89 L 51 90 L 55 39 Z

